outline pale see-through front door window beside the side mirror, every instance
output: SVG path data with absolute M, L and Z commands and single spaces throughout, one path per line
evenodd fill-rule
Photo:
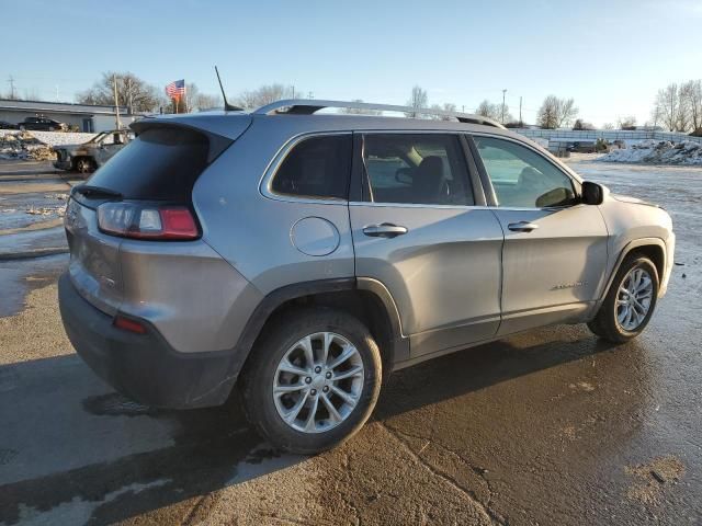
M 573 203 L 573 182 L 545 157 L 510 140 L 474 137 L 499 206 L 543 208 Z

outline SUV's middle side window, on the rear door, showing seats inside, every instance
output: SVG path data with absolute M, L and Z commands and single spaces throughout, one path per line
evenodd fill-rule
M 374 203 L 474 204 L 456 136 L 370 134 L 363 161 Z

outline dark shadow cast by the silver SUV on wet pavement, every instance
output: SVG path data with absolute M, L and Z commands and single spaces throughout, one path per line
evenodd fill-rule
M 566 340 L 555 334 L 540 330 L 397 371 L 373 418 L 385 420 L 612 348 L 585 332 Z M 163 506 L 182 506 L 184 516 L 195 498 L 305 459 L 263 444 L 236 396 L 220 408 L 154 410 L 112 392 L 75 355 L 2 366 L 0 392 L 0 416 L 12 415 L 0 431 L 0 523 L 5 525 L 76 503 L 88 506 L 88 524 Z M 47 424 L 47 411 L 60 414 L 50 413 Z

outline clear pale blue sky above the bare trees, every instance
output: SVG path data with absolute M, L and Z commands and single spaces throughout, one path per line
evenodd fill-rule
M 702 0 L 290 2 L 161 0 L 3 2 L 8 77 L 22 94 L 72 101 L 105 70 L 203 92 L 293 84 L 317 99 L 473 111 L 484 99 L 533 121 L 547 94 L 586 121 L 639 123 L 659 88 L 702 78 Z

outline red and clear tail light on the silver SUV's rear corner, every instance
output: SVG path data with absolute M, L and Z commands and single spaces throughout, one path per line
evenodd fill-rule
M 104 233 L 133 239 L 189 240 L 200 231 L 185 206 L 104 203 L 98 207 L 98 226 Z

